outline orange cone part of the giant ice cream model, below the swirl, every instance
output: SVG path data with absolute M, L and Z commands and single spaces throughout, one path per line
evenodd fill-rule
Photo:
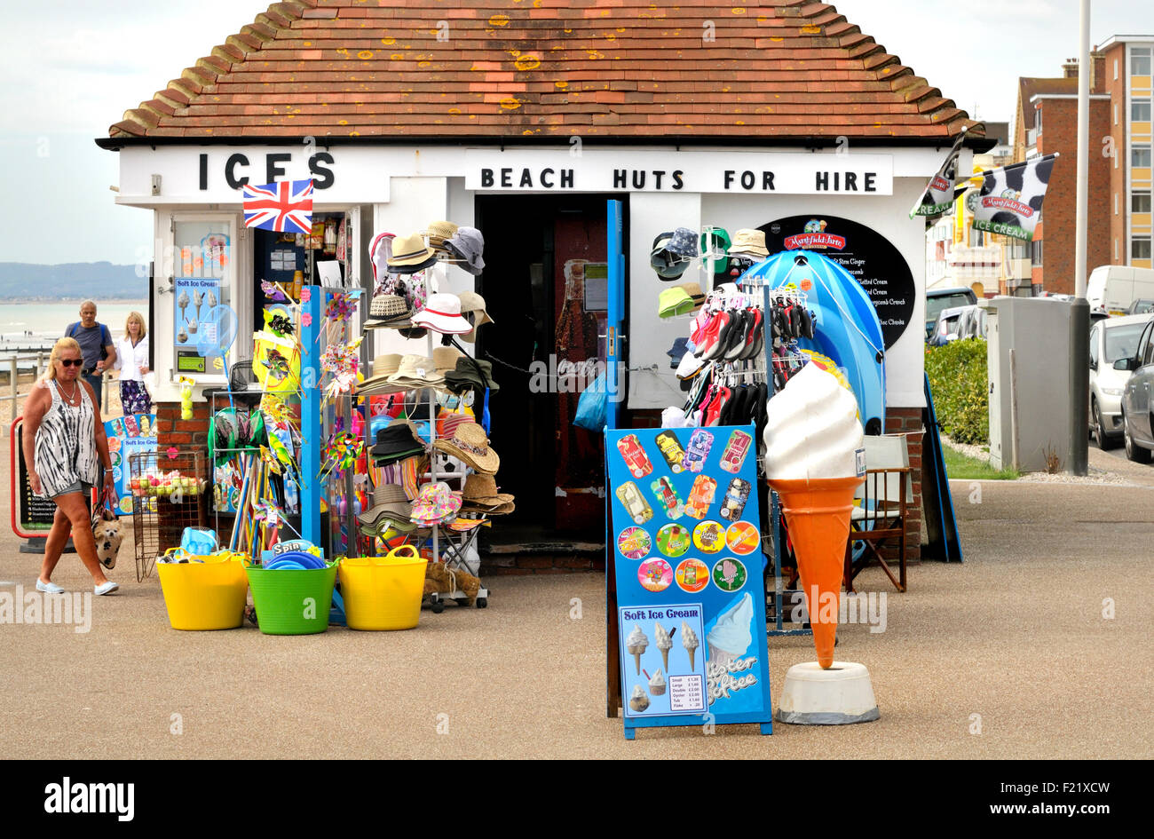
M 781 496 L 781 511 L 797 554 L 797 572 L 814 629 L 817 662 L 824 669 L 833 665 L 849 511 L 861 482 L 861 478 L 770 481 Z

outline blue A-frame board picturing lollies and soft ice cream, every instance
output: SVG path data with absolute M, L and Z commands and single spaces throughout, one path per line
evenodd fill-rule
M 752 426 L 607 429 L 624 733 L 773 732 Z

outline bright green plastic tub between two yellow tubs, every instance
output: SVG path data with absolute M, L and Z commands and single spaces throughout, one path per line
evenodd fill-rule
M 329 628 L 337 565 L 319 570 L 272 570 L 249 565 L 256 623 L 265 635 L 315 635 Z

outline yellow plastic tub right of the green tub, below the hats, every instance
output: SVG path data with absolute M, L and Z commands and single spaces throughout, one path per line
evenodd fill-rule
M 421 616 L 428 561 L 405 546 L 382 559 L 340 562 L 340 594 L 350 629 L 412 629 Z

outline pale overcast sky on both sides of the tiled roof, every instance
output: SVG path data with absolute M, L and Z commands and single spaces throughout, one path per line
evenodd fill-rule
M 1141 0 L 1093 0 L 1093 43 L 1154 30 Z M 1078 52 L 1077 0 L 833 0 L 971 117 L 1010 121 L 1018 76 Z M 92 140 L 166 87 L 264 0 L 38 0 L 5 9 L 0 152 L 9 177 L 0 262 L 134 263 L 151 214 L 117 207 L 117 155 Z M 976 108 L 976 112 L 975 112 Z

